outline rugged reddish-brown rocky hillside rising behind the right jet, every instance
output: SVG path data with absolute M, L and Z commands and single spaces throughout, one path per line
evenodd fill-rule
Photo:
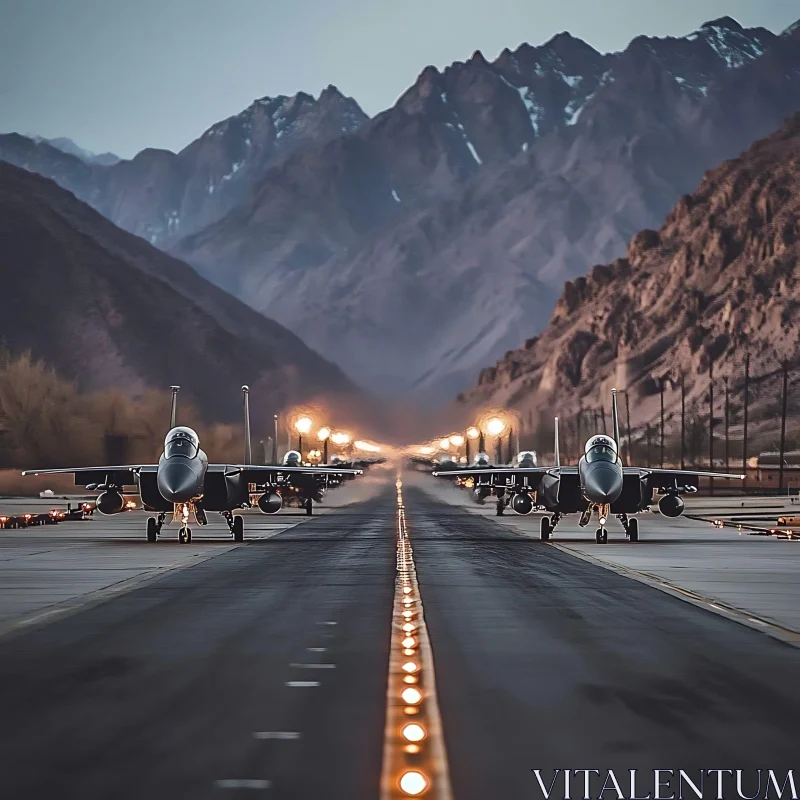
M 797 114 L 706 174 L 624 258 L 567 282 L 544 331 L 483 370 L 462 404 L 514 408 L 535 427 L 556 407 L 607 408 L 616 385 L 636 426 L 657 419 L 662 383 L 680 407 L 683 381 L 687 402 L 707 405 L 712 362 L 718 380 L 741 378 L 745 354 L 751 375 L 800 363 L 799 265 Z M 774 414 L 777 378 L 772 389 Z

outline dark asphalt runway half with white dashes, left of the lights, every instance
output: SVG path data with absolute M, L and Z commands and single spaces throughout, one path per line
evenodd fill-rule
M 387 486 L 0 639 L 0 797 L 377 797 L 394 515 Z

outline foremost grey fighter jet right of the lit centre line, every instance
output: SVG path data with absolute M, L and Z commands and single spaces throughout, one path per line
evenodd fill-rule
M 627 538 L 639 541 L 639 521 L 632 515 L 649 511 L 656 491 L 661 493 L 659 511 L 666 517 L 678 517 L 684 510 L 681 495 L 696 492 L 700 478 L 744 479 L 744 475 L 729 473 L 623 466 L 619 456 L 617 390 L 612 389 L 611 395 L 614 434 L 591 436 L 576 467 L 561 466 L 556 417 L 553 466 L 492 467 L 445 474 L 474 476 L 476 491 L 481 488 L 498 495 L 498 514 L 503 513 L 507 495 L 511 496 L 509 505 L 518 514 L 530 514 L 537 506 L 550 512 L 541 520 L 540 536 L 545 542 L 565 515 L 580 514 L 579 524 L 584 527 L 596 513 L 598 544 L 608 542 L 606 524 L 612 514 L 622 523 Z

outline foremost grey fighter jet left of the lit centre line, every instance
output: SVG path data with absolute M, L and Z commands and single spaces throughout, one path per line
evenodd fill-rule
M 170 430 L 164 439 L 164 452 L 158 464 L 133 464 L 127 466 L 73 467 L 70 469 L 25 470 L 23 475 L 52 475 L 73 473 L 75 485 L 90 491 L 101 490 L 97 510 L 101 514 L 117 514 L 125 510 L 122 490 L 135 486 L 142 507 L 156 512 L 147 520 L 147 541 L 158 540 L 167 514 L 180 524 L 178 540 L 186 544 L 192 540 L 190 516 L 199 525 L 206 525 L 206 512 L 217 511 L 228 523 L 235 542 L 244 541 L 244 520 L 234 515 L 234 510 L 249 508 L 253 504 L 264 513 L 280 509 L 280 496 L 266 487 L 273 486 L 285 476 L 314 476 L 327 470 L 304 467 L 299 464 L 262 466 L 252 463 L 250 446 L 250 406 L 247 386 L 242 386 L 244 397 L 245 452 L 243 464 L 209 464 L 208 456 L 200 449 L 200 439 L 195 431 L 177 425 L 179 386 L 172 386 Z M 357 475 L 358 470 L 341 472 Z M 259 491 L 264 487 L 263 491 Z M 277 507 L 276 507 L 277 505 Z

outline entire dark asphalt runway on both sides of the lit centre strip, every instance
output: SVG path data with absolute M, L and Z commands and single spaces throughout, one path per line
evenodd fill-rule
M 403 495 L 453 797 L 542 797 L 533 769 L 794 765 L 800 650 L 429 480 Z M 2 795 L 381 797 L 394 486 L 365 497 L 0 637 Z

